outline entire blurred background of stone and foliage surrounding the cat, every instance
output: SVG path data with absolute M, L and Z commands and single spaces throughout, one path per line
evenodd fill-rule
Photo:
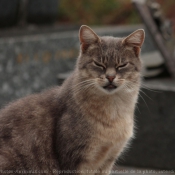
M 145 29 L 136 139 L 117 164 L 173 174 L 175 0 L 0 0 L 0 107 L 60 85 L 74 69 L 83 24 L 100 36 Z

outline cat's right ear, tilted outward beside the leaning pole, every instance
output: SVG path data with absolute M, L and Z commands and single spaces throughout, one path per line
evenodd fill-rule
M 136 56 L 139 56 L 140 49 L 145 39 L 145 32 L 143 29 L 136 30 L 129 36 L 123 39 L 123 44 L 129 47 L 133 47 Z

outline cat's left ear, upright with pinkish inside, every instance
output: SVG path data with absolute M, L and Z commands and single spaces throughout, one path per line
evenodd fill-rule
M 86 25 L 82 25 L 80 27 L 79 40 L 81 44 L 81 50 L 83 52 L 85 52 L 91 44 L 100 42 L 100 38 L 98 37 L 98 35 Z

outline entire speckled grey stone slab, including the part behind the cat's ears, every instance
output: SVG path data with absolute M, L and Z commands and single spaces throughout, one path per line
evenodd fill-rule
M 126 36 L 139 26 L 94 28 L 99 35 Z M 152 45 L 152 46 L 151 46 Z M 155 49 L 149 36 L 143 52 Z M 0 38 L 0 107 L 58 84 L 57 75 L 74 69 L 78 30 Z

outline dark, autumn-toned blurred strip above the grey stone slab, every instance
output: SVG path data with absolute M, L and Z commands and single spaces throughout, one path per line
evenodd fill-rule
M 142 0 L 141 0 L 142 1 Z M 175 22 L 174 0 L 155 0 Z M 0 0 L 0 26 L 128 25 L 141 20 L 131 0 Z

